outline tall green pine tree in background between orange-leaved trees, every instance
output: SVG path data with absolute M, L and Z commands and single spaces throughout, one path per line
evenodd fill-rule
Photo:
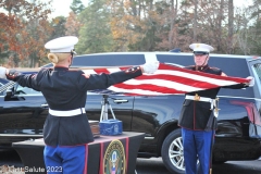
M 80 13 L 84 25 L 79 30 L 77 53 L 96 53 L 112 51 L 110 13 L 105 0 L 92 0 Z

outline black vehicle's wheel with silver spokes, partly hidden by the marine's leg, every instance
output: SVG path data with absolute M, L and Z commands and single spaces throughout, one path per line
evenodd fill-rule
M 171 173 L 185 173 L 181 128 L 166 136 L 161 148 L 161 156 L 164 165 Z

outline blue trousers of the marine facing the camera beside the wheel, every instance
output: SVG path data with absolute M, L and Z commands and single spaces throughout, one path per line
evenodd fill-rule
M 185 172 L 186 174 L 209 174 L 211 146 L 214 142 L 214 130 L 190 130 L 182 128 Z M 212 142 L 213 141 L 213 142 Z M 199 169 L 197 169 L 199 160 Z

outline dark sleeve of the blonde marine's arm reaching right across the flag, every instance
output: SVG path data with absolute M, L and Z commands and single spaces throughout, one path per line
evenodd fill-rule
M 123 83 L 125 80 L 142 75 L 139 66 L 119 71 L 111 74 L 90 74 L 86 76 L 84 73 L 79 76 L 79 88 L 83 90 L 107 89 L 108 87 Z

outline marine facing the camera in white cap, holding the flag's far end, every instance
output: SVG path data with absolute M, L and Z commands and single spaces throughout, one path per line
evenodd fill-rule
M 192 44 L 196 65 L 185 69 L 226 76 L 222 70 L 208 65 L 209 52 L 213 47 L 204 44 Z M 251 78 L 251 77 L 249 77 Z M 251 78 L 252 79 L 252 78 Z M 245 88 L 246 84 L 226 88 Z M 186 174 L 211 173 L 211 156 L 216 128 L 216 117 L 213 116 L 213 105 L 216 105 L 216 95 L 220 88 L 188 92 L 185 96 L 178 124 L 182 127 Z M 217 108 L 216 108 L 217 109 Z M 199 169 L 197 169 L 199 160 Z

